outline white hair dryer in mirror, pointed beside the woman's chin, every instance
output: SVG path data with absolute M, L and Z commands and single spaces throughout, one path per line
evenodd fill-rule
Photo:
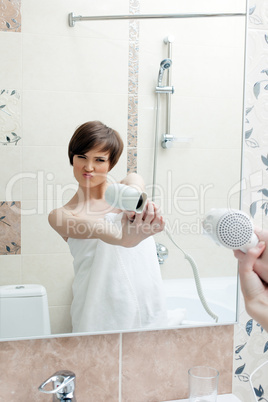
M 147 194 L 121 183 L 110 184 L 105 192 L 105 200 L 114 208 L 142 213 Z

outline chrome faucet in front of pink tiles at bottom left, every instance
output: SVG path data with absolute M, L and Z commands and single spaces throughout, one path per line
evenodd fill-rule
M 51 391 L 45 390 L 45 386 L 53 384 Z M 74 395 L 75 374 L 69 370 L 57 371 L 38 387 L 39 391 L 53 395 L 53 402 L 76 402 Z

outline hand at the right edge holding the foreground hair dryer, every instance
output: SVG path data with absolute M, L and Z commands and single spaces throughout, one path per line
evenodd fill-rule
M 260 242 L 245 254 L 235 250 L 241 290 L 248 314 L 268 331 L 268 242 L 267 231 L 257 231 Z

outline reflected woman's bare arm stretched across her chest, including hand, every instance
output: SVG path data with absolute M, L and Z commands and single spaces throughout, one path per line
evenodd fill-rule
M 129 220 L 123 214 L 122 228 L 105 219 L 80 218 L 60 208 L 49 214 L 49 223 L 63 238 L 100 239 L 106 243 L 123 247 L 134 247 L 142 240 L 164 229 L 164 220 L 154 203 L 148 202 L 141 214 Z

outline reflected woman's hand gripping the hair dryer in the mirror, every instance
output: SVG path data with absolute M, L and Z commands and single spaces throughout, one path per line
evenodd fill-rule
M 122 245 L 134 247 L 142 240 L 165 227 L 160 210 L 152 201 L 148 201 L 141 214 L 125 211 L 122 218 Z

